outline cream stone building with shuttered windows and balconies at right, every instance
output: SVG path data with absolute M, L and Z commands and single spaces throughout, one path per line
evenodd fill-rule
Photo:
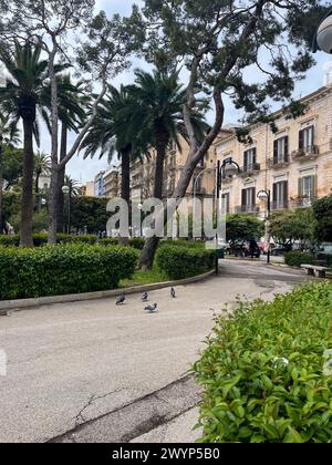
M 332 86 L 302 99 L 304 114 L 289 118 L 277 112 L 278 132 L 268 124 L 250 127 L 251 143 L 240 143 L 236 132 L 222 134 L 215 144 L 220 162 L 236 162 L 239 173 L 222 176 L 222 197 L 230 213 L 263 217 L 260 189 L 271 192 L 273 210 L 308 207 L 332 193 Z

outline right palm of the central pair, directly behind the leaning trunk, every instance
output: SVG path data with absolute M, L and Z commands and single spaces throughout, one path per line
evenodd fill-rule
M 127 136 L 136 135 L 156 151 L 154 197 L 163 199 L 164 165 L 168 147 L 173 142 L 179 147 L 179 135 L 188 140 L 184 125 L 183 108 L 187 100 L 186 90 L 179 84 L 178 72 L 135 72 L 135 85 L 129 86 L 131 105 L 124 108 Z M 208 125 L 204 121 L 204 102 L 197 101 L 191 121 L 198 137 L 203 137 Z M 152 268 L 159 239 L 148 239 L 142 251 L 139 267 Z

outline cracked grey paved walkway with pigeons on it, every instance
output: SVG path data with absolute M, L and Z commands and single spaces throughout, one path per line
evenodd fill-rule
M 181 442 L 199 390 L 188 375 L 215 312 L 238 294 L 272 299 L 302 272 L 222 260 L 220 277 L 139 296 L 55 304 L 0 318 L 0 442 Z M 185 428 L 184 428 L 185 425 Z

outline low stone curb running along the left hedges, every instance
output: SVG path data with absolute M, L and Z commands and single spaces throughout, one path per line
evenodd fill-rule
M 215 275 L 215 270 L 208 271 L 204 275 L 195 276 L 193 278 L 181 279 L 179 281 L 166 281 L 156 282 L 154 285 L 134 286 L 132 288 L 114 289 L 110 291 L 97 291 L 87 293 L 74 293 L 68 296 L 54 296 L 54 297 L 39 297 L 35 299 L 21 299 L 21 300 L 2 300 L 0 301 L 0 316 L 7 316 L 8 310 L 22 310 L 29 308 L 37 308 L 41 306 L 51 306 L 54 303 L 70 303 L 81 302 L 83 300 L 97 300 L 105 299 L 107 297 L 116 297 L 120 293 L 129 296 L 132 293 L 143 293 L 153 290 L 170 288 L 173 286 L 190 285 L 193 282 L 203 281 Z

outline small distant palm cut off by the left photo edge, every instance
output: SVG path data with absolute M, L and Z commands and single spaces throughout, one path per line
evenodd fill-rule
M 20 142 L 20 133 L 9 115 L 0 113 L 0 235 L 3 234 L 4 218 L 2 213 L 3 188 L 3 152 L 6 146 L 14 146 Z

